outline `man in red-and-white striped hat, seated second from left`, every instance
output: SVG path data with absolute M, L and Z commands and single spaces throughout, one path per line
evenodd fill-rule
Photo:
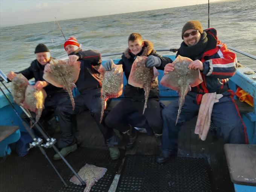
M 74 111 L 70 101 L 62 103 L 57 108 L 61 128 L 61 137 L 58 140 L 58 146 L 62 148 L 60 152 L 63 156 L 66 156 L 77 149 L 77 141 L 72 132 L 71 119 L 88 108 L 104 136 L 106 146 L 110 149 L 111 159 L 115 160 L 120 156 L 116 146 L 116 135 L 113 129 L 99 123 L 101 116 L 102 75 L 98 72 L 98 69 L 101 66 L 101 54 L 96 50 L 82 50 L 75 37 L 70 37 L 64 43 L 64 49 L 69 55 L 69 64 L 71 66 L 76 64 L 76 61 L 81 62 L 78 81 L 75 83 L 81 94 L 74 98 Z M 49 65 L 46 66 L 45 71 L 51 72 Z M 60 158 L 58 154 L 55 154 L 53 157 L 55 160 Z

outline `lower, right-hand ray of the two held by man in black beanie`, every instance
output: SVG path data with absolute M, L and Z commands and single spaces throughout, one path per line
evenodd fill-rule
M 35 112 L 36 119 L 35 123 L 41 117 L 42 111 L 44 109 L 44 100 L 47 94 L 46 91 L 42 88 L 41 90 L 37 90 L 33 85 L 28 85 L 25 92 L 25 101 L 23 102 L 23 107 L 30 111 Z

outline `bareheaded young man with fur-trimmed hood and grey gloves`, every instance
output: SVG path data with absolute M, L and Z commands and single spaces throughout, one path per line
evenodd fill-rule
M 172 62 L 171 59 L 158 55 L 153 47 L 153 44 L 148 40 L 142 40 L 142 36 L 138 33 L 130 34 L 128 38 L 128 48 L 122 55 L 122 59 L 118 64 L 123 65 L 123 72 L 126 79 L 129 79 L 131 67 L 133 65 L 136 56 L 148 56 L 146 61 L 146 67 L 156 67 L 163 70 L 165 65 Z M 107 61 L 105 64 L 106 70 L 111 70 L 111 61 Z M 144 103 L 145 103 L 145 91 L 143 88 L 133 87 L 127 84 L 124 88 L 124 99 L 120 101 L 107 115 L 105 123 L 107 126 L 119 130 L 126 137 L 128 142 L 126 143 L 126 149 L 132 149 L 136 140 L 136 131 L 128 124 L 127 116 L 139 112 L 142 115 Z M 160 114 L 159 104 L 159 90 L 158 81 L 155 78 L 152 81 L 151 90 L 149 92 L 149 98 L 147 102 L 147 108 L 145 109 L 144 116 L 148 121 L 149 126 L 154 131 L 157 144 L 162 146 L 162 117 Z

